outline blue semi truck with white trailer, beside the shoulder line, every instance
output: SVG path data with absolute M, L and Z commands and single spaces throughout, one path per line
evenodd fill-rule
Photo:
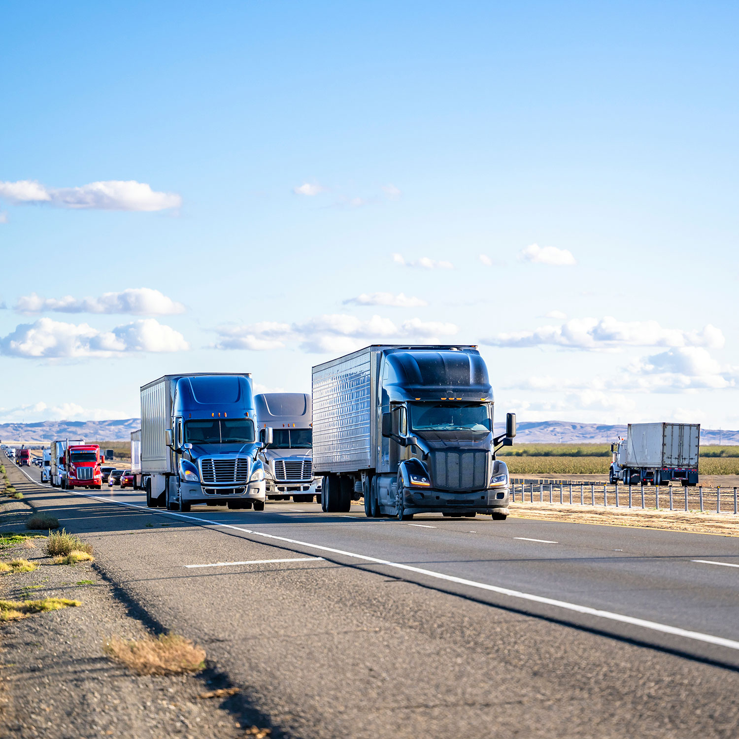
M 141 474 L 149 508 L 265 508 L 248 374 L 164 375 L 141 387 Z

